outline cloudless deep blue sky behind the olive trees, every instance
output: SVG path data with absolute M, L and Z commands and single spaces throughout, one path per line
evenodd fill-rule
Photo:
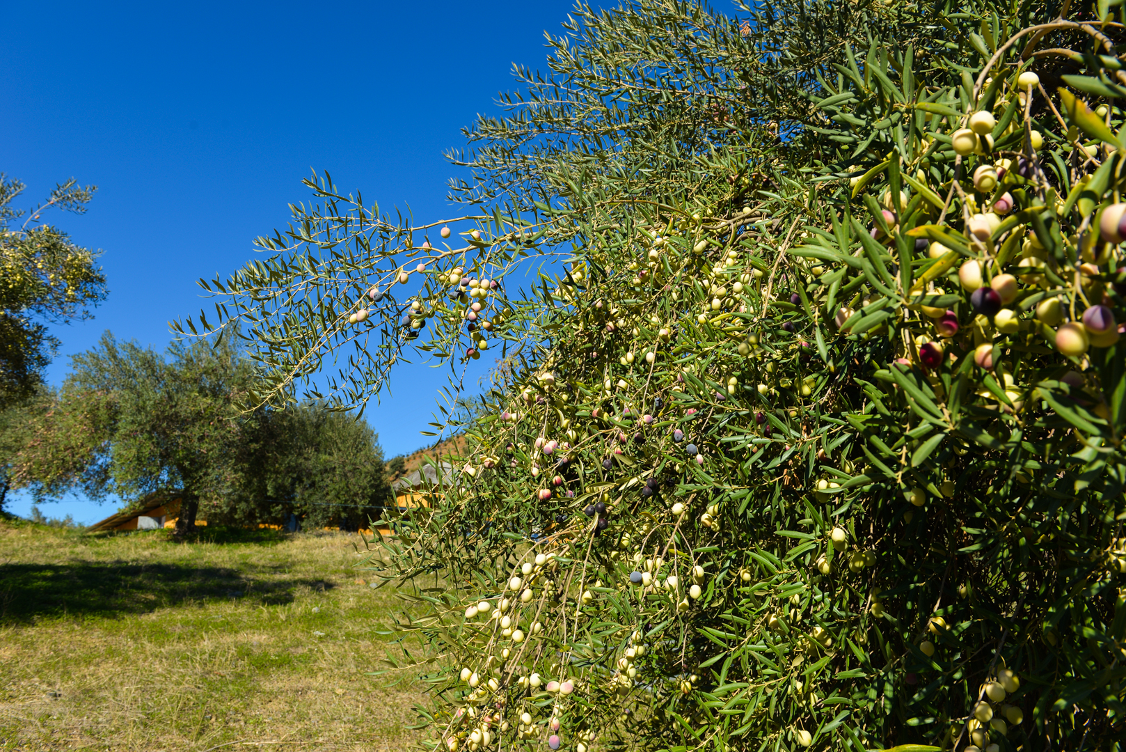
M 616 5 L 616 3 L 615 3 Z M 205 301 L 199 277 L 226 276 L 251 241 L 307 201 L 301 179 L 328 169 L 365 202 L 417 220 L 452 215 L 444 150 L 497 113 L 512 63 L 546 72 L 544 30 L 569 0 L 537 2 L 28 3 L 5 9 L 0 170 L 27 184 L 24 204 L 71 176 L 98 193 L 83 216 L 52 223 L 105 251 L 109 299 L 88 322 L 57 327 L 68 355 L 111 330 L 159 348 L 168 321 Z M 485 359 L 482 359 L 482 363 Z M 447 371 L 415 366 L 366 417 L 387 457 L 419 435 Z M 26 496 L 8 508 L 27 514 Z M 92 522 L 111 505 L 44 506 Z

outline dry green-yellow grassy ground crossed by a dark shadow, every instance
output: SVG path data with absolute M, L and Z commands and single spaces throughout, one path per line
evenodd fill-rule
M 0 521 L 0 750 L 409 745 L 419 687 L 368 675 L 397 602 L 358 542 Z

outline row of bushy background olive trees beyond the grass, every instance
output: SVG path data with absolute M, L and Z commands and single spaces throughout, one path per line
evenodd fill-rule
M 240 414 L 252 369 L 232 338 L 167 354 L 106 333 L 72 359 L 59 389 L 0 414 L 0 462 L 36 502 L 72 490 L 126 502 L 181 497 L 177 532 L 209 523 L 349 529 L 392 499 L 377 436 L 363 419 L 307 402 Z

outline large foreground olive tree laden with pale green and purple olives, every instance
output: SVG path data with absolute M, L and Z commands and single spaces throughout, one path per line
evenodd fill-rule
M 462 242 L 311 183 L 211 285 L 259 400 L 502 351 L 383 546 L 429 746 L 1118 744 L 1123 12 L 580 8 Z

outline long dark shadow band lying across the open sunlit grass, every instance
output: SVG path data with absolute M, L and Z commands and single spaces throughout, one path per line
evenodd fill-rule
M 229 600 L 282 605 L 301 587 L 327 591 L 333 584 L 320 578 L 258 580 L 253 569 L 164 563 L 0 564 L 0 626 L 57 617 L 115 618 Z

